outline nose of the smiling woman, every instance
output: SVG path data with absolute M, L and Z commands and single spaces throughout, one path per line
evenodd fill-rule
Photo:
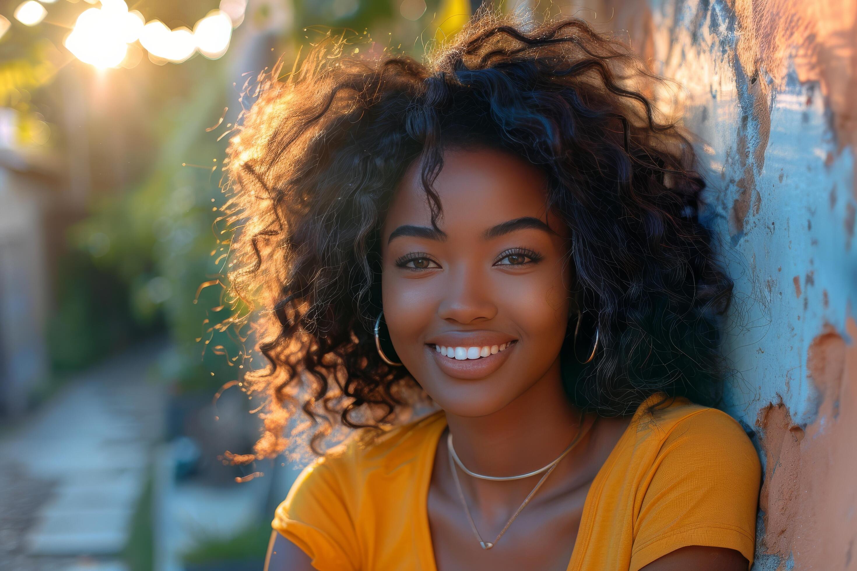
M 497 315 L 497 305 L 492 299 L 495 292 L 478 265 L 458 265 L 446 276 L 448 281 L 444 284 L 445 294 L 437 309 L 438 317 L 470 324 L 487 321 Z

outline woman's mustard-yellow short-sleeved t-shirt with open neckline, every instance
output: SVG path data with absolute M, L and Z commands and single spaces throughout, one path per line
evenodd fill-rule
M 637 571 L 687 545 L 752 563 L 761 469 L 740 425 L 686 399 L 638 407 L 584 503 L 567 571 Z M 428 484 L 442 411 L 306 467 L 272 526 L 321 571 L 436 571 Z

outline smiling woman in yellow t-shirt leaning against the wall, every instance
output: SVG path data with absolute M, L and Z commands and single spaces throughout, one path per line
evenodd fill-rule
M 577 19 L 342 50 L 275 70 L 229 152 L 233 292 L 270 310 L 256 457 L 302 414 L 318 453 L 359 429 L 267 568 L 748 568 L 758 458 L 704 406 L 732 286 L 662 80 Z

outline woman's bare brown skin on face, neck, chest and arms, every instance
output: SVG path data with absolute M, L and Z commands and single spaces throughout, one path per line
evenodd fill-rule
M 577 306 L 569 293 L 572 269 L 564 262 L 567 229 L 546 211 L 544 185 L 539 170 L 512 155 L 450 150 L 434 183 L 443 234 L 426 230 L 430 211 L 416 163 L 382 228 L 381 286 L 393 345 L 446 413 L 428 491 L 438 571 L 565 569 L 590 484 L 630 421 L 590 414 L 578 424 L 580 411 L 563 392 L 560 347 Z M 452 360 L 434 348 L 493 342 L 512 342 L 495 366 L 485 366 L 488 360 Z M 470 470 L 512 475 L 554 460 L 582 428 L 585 436 L 500 541 L 482 550 L 452 479 L 447 431 Z M 486 541 L 494 541 L 540 478 L 494 482 L 458 474 Z M 272 534 L 266 568 L 313 569 L 309 556 L 278 532 Z M 688 546 L 644 569 L 746 568 L 738 551 Z

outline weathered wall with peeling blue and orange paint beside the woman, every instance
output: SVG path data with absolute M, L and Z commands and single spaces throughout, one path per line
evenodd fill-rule
M 686 87 L 710 168 L 728 410 L 765 467 L 755 568 L 857 569 L 857 0 L 593 7 Z

